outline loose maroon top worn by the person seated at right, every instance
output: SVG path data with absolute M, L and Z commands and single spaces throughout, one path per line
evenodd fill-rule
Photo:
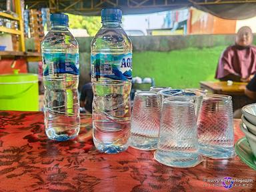
M 215 78 L 221 79 L 229 74 L 237 75 L 241 78 L 248 78 L 256 73 L 256 47 L 241 47 L 232 45 L 223 51 Z

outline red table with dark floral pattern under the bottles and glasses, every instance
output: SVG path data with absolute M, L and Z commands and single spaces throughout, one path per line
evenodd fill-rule
M 235 141 L 243 137 L 235 120 Z M 253 179 L 256 171 L 239 157 L 213 160 L 189 169 L 157 163 L 153 151 L 129 147 L 116 155 L 101 154 L 91 141 L 91 118 L 74 141 L 49 141 L 43 113 L 0 111 L 0 191 L 227 191 L 205 187 L 204 179 Z

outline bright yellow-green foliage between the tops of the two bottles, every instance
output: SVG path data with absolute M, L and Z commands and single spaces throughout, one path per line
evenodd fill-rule
M 86 29 L 90 36 L 95 36 L 101 28 L 101 17 L 99 16 L 67 15 L 69 15 L 70 29 Z

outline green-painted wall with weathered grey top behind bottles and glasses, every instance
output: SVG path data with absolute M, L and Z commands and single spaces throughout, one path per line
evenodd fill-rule
M 92 38 L 77 38 L 81 66 L 79 87 L 90 81 Z M 173 88 L 199 87 L 199 81 L 215 80 L 219 56 L 225 47 L 233 44 L 234 40 L 235 35 L 131 37 L 133 77 L 153 77 L 155 85 Z M 33 41 L 26 42 L 27 49 L 33 49 L 31 42 Z

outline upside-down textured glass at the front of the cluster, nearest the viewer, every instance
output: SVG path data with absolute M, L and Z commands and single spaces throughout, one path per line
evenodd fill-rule
M 164 99 L 157 151 L 159 163 L 171 167 L 194 167 L 203 160 L 198 153 L 195 98 L 173 96 Z

